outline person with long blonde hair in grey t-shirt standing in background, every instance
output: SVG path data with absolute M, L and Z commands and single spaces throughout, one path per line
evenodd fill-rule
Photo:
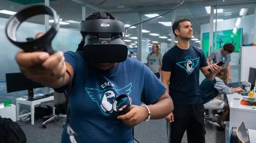
M 163 55 L 159 50 L 159 45 L 154 43 L 152 45 L 152 52 L 148 53 L 147 56 L 147 66 L 158 79 L 160 78 L 162 59 Z

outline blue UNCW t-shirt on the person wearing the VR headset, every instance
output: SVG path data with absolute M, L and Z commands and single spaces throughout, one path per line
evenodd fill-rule
M 114 98 L 127 94 L 132 104 L 153 104 L 165 86 L 138 60 L 127 58 L 107 71 L 96 70 L 83 59 L 83 52 L 65 52 L 74 69 L 70 100 L 70 126 L 79 134 L 78 143 L 133 143 L 132 127 L 117 119 Z M 64 127 L 61 143 L 70 143 Z

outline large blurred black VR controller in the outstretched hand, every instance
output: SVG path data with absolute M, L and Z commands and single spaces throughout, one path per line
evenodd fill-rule
M 38 39 L 33 39 L 26 42 L 17 41 L 16 32 L 20 24 L 22 24 L 30 17 L 36 15 L 52 16 L 54 20 L 52 27 Z M 51 46 L 51 43 L 52 39 L 60 28 L 59 19 L 59 15 L 57 15 L 56 11 L 53 8 L 47 7 L 45 5 L 32 5 L 30 7 L 22 9 L 21 11 L 10 17 L 5 26 L 5 34 L 7 36 L 7 39 L 12 44 L 23 49 L 25 52 L 44 51 L 48 52 L 49 54 L 53 54 L 54 50 Z

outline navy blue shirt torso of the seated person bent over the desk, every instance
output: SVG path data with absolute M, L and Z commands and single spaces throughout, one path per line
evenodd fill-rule
M 215 84 L 216 84 L 216 79 L 215 78 L 212 81 L 208 80 L 208 79 L 204 79 L 201 82 L 200 92 L 201 92 L 203 104 L 211 101 L 212 99 L 214 99 L 219 94 L 219 91 L 216 88 L 214 88 Z

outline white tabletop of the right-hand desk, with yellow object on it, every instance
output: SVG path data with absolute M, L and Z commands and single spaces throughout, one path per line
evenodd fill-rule
M 238 94 L 238 93 L 227 95 L 227 100 L 228 100 L 230 110 L 246 111 L 246 112 L 256 113 L 256 107 L 252 107 L 252 106 L 249 106 L 249 105 L 241 105 L 240 102 L 243 99 L 242 97 L 243 96 L 241 94 Z M 239 100 L 235 100 L 234 98 L 237 98 Z

